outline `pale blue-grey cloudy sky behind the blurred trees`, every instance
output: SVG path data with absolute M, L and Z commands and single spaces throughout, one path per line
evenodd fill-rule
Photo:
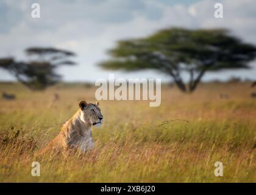
M 41 18 L 31 17 L 31 5 L 40 4 Z M 221 2 L 224 18 L 215 18 L 214 5 Z M 94 81 L 108 78 L 98 62 L 107 59 L 106 50 L 116 40 L 145 37 L 165 27 L 225 27 L 248 43 L 256 44 L 255 0 L 0 0 L 0 57 L 23 59 L 29 46 L 54 46 L 76 52 L 77 66 L 58 71 L 66 81 Z M 204 80 L 232 76 L 256 79 L 252 70 L 208 73 Z M 115 72 L 116 77 L 154 77 L 155 71 Z M 168 78 L 168 77 L 167 77 Z M 0 70 L 0 80 L 13 80 Z M 169 78 L 167 79 L 169 80 Z

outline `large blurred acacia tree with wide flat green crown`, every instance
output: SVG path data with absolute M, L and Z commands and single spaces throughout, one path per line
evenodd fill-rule
M 104 69 L 156 69 L 171 76 L 180 90 L 191 92 L 207 71 L 250 68 L 256 48 L 226 29 L 171 28 L 147 38 L 118 41 L 108 54 L 112 59 L 99 63 Z M 189 74 L 187 85 L 183 73 Z

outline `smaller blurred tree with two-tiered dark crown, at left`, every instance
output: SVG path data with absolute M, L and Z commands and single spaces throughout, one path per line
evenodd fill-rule
M 0 59 L 0 68 L 7 69 L 18 81 L 31 90 L 44 90 L 59 82 L 61 76 L 55 69 L 62 65 L 75 65 L 69 57 L 75 54 L 55 48 L 26 49 L 27 62 L 16 62 L 13 58 Z

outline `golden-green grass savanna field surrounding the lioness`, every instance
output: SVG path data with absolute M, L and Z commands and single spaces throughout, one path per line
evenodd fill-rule
M 246 82 L 205 83 L 193 94 L 163 86 L 160 107 L 100 101 L 104 124 L 93 127 L 91 152 L 36 157 L 80 100 L 96 101 L 95 90 L 59 84 L 32 92 L 1 83 L 16 99 L 0 103 L 0 182 L 256 182 L 256 89 Z M 31 176 L 32 161 L 40 177 Z M 214 174 L 216 161 L 223 177 Z

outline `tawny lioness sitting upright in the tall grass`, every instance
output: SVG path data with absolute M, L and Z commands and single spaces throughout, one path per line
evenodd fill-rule
M 65 122 L 57 137 L 44 147 L 40 154 L 65 152 L 74 148 L 86 152 L 94 146 L 91 126 L 99 127 L 103 121 L 99 102 L 87 104 L 86 101 L 81 101 L 79 107 L 76 114 Z

